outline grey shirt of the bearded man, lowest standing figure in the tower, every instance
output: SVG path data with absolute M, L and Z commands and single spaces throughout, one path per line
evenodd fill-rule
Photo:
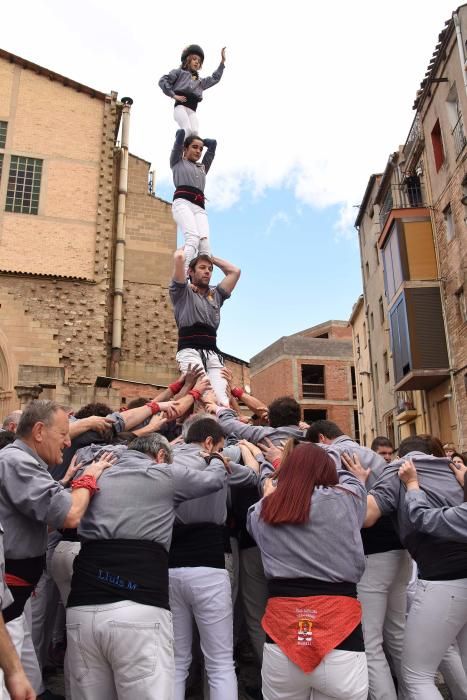
M 217 329 L 221 320 L 221 306 L 230 297 L 229 292 L 219 284 L 210 287 L 207 294 L 198 294 L 188 282 L 175 280 L 169 285 L 169 294 L 178 328 L 203 323 Z

